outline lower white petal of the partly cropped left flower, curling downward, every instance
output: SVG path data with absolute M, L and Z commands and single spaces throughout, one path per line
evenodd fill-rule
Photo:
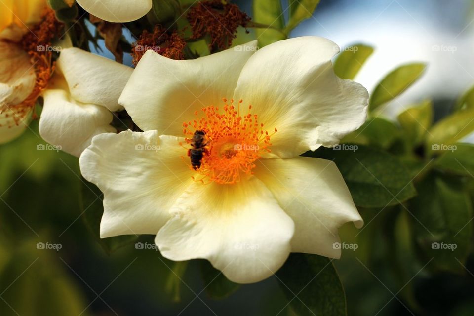
M 113 116 L 109 110 L 95 104 L 75 101 L 69 94 L 64 79 L 56 76 L 53 80 L 53 88 L 43 92 L 40 135 L 45 141 L 61 146 L 61 150 L 79 157 L 90 145 L 92 137 L 116 132 L 110 126 Z

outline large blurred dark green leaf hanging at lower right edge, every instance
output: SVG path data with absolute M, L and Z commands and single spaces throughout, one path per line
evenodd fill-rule
M 473 240 L 473 206 L 457 179 L 432 173 L 417 185 L 419 195 L 410 201 L 415 237 L 435 266 L 463 271 Z M 435 244 L 434 244 L 435 243 Z M 456 260 L 457 259 L 457 260 Z

